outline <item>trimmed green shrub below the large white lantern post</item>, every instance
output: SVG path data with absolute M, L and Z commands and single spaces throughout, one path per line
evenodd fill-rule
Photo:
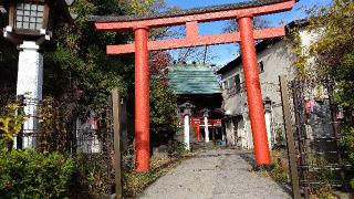
M 0 198 L 67 198 L 75 164 L 34 149 L 0 151 Z

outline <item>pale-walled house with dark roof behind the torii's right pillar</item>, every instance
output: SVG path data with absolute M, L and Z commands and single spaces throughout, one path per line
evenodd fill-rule
M 301 29 L 306 24 L 306 20 L 299 20 L 287 25 L 288 32 L 296 28 L 304 49 L 316 38 Z M 295 56 L 287 43 L 287 40 L 291 39 L 290 34 L 287 34 L 284 38 L 263 40 L 256 45 L 270 148 L 282 144 L 284 136 L 279 75 L 294 74 L 292 65 Z M 222 83 L 222 124 L 227 144 L 250 149 L 253 147 L 252 132 L 241 56 L 221 67 L 217 74 L 221 76 Z

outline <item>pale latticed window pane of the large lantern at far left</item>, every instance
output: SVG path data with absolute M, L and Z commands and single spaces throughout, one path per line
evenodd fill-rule
M 43 27 L 44 6 L 37 3 L 18 3 L 15 28 L 40 30 Z

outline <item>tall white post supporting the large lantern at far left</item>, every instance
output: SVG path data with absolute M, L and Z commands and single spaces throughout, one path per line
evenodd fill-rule
M 43 55 L 34 41 L 24 41 L 19 45 L 19 71 L 17 95 L 24 96 L 24 114 L 29 118 L 23 124 L 22 148 L 35 147 L 35 134 L 39 128 L 38 104 L 42 101 Z M 14 144 L 17 146 L 17 143 Z

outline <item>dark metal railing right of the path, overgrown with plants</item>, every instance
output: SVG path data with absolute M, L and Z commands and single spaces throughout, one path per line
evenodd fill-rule
M 340 143 L 346 132 L 341 128 L 345 121 L 337 118 L 339 108 L 333 102 L 334 83 L 281 81 L 294 198 L 302 192 L 308 199 L 323 185 L 348 190 L 353 165 Z

